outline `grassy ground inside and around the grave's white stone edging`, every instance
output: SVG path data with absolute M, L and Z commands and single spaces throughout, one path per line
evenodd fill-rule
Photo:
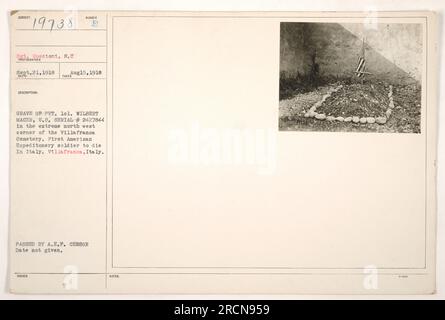
M 338 83 L 332 84 L 338 86 Z M 381 116 L 387 108 L 388 84 L 374 83 L 361 85 L 352 84 L 350 90 L 339 91 L 322 105 L 317 112 L 325 112 L 327 115 L 349 116 L 355 112 L 357 116 Z M 317 94 L 299 93 L 293 98 L 280 101 L 281 131 L 352 131 L 352 132 L 420 132 L 420 86 L 393 85 L 393 99 L 395 108 L 386 124 L 356 124 L 352 122 L 338 122 L 305 118 L 304 112 L 311 103 L 320 99 L 323 90 Z M 302 96 L 303 95 L 303 96 Z M 306 98 L 309 97 L 309 98 Z M 356 100 L 356 101 L 355 101 Z M 304 101 L 304 104 L 299 103 Z M 338 104 L 337 104 L 338 103 Z M 287 106 L 286 112 L 285 106 Z M 293 108 L 289 108 L 293 106 Z M 283 111 L 283 112 L 282 112 Z M 352 115 L 352 114 L 351 114 Z M 355 114 L 354 114 L 355 115 Z

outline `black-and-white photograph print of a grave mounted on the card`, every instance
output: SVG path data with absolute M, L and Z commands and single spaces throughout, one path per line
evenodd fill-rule
M 420 133 L 422 25 L 280 24 L 280 131 Z

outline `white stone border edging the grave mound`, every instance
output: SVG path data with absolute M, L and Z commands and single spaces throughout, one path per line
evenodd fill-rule
M 378 123 L 378 124 L 385 124 L 389 117 L 392 114 L 392 109 L 394 109 L 394 100 L 393 100 L 393 94 L 392 94 L 392 85 L 389 86 L 389 92 L 388 92 L 388 98 L 389 98 L 389 107 L 385 112 L 385 116 L 382 117 L 357 117 L 357 116 L 350 116 L 350 117 L 333 117 L 333 116 L 326 116 L 324 113 L 317 113 L 316 110 L 318 107 L 320 107 L 323 102 L 326 101 L 327 98 L 329 98 L 332 93 L 337 92 L 340 90 L 343 86 L 339 85 L 338 87 L 334 89 L 329 89 L 328 92 L 323 95 L 320 101 L 317 101 L 305 114 L 305 118 L 315 118 L 317 120 L 327 120 L 327 121 L 339 121 L 339 122 L 354 122 L 354 123 Z

